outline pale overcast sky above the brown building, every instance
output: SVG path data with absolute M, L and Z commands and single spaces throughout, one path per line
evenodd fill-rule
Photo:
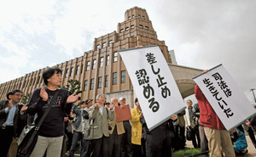
M 1 1 L 0 83 L 82 56 L 94 38 L 116 31 L 125 10 L 135 6 L 147 10 L 177 64 L 198 69 L 224 64 L 253 102 L 254 0 Z

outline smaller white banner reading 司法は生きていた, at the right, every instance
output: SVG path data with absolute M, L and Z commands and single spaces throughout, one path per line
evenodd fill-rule
M 228 131 L 255 114 L 253 105 L 222 64 L 193 80 Z

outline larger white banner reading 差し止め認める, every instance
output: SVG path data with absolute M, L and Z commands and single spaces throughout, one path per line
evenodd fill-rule
M 176 81 L 157 46 L 120 50 L 149 131 L 185 108 Z

